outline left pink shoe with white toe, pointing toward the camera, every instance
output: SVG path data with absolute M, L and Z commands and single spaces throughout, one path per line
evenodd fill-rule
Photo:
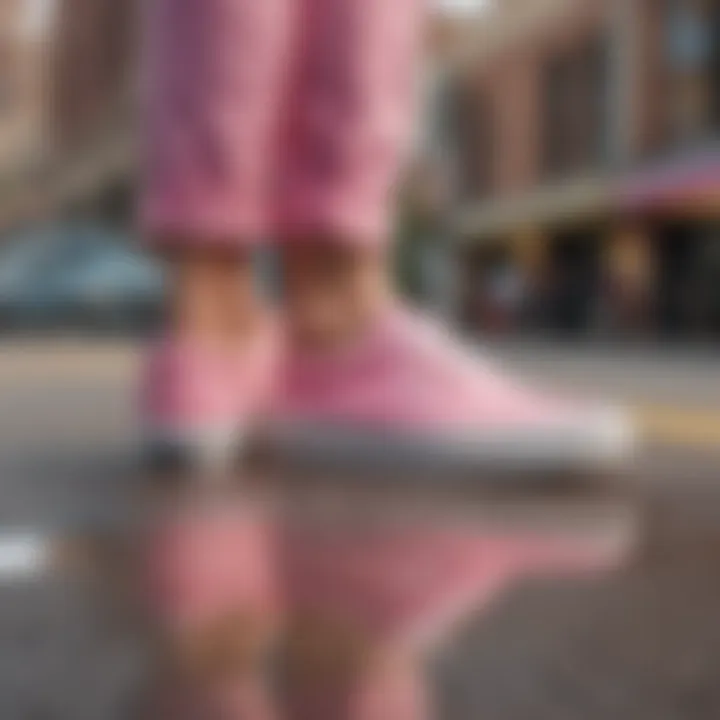
M 272 339 L 230 356 L 188 343 L 159 343 L 146 361 L 142 425 L 151 461 L 224 467 L 239 456 L 248 422 L 272 378 Z

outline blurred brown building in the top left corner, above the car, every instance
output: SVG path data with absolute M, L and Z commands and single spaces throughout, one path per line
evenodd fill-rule
M 0 0 L 0 230 L 127 177 L 138 7 Z

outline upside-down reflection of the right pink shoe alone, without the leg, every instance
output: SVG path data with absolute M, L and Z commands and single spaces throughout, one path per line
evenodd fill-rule
M 457 521 L 286 527 L 290 603 L 344 618 L 355 634 L 411 653 L 432 650 L 459 620 L 519 579 L 593 574 L 620 565 L 633 530 L 499 530 Z

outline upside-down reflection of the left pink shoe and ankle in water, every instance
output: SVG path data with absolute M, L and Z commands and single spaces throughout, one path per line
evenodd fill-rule
M 281 611 L 274 536 L 272 512 L 250 502 L 159 523 L 146 588 L 176 676 L 151 717 L 276 717 L 264 683 Z

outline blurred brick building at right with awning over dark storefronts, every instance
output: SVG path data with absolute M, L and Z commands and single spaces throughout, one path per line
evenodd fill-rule
M 503 0 L 451 115 L 469 322 L 720 336 L 718 0 Z

